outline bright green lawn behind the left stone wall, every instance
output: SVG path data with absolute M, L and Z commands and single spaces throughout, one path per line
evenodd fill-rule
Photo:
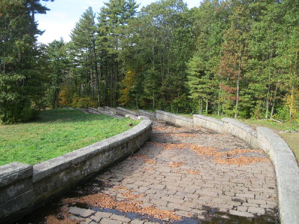
M 30 123 L 0 125 L 0 165 L 40 163 L 122 133 L 139 122 L 104 114 L 55 109 Z

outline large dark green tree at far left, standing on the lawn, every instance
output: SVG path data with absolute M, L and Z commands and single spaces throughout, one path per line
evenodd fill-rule
M 36 44 L 42 32 L 35 13 L 48 8 L 39 0 L 0 1 L 0 122 L 26 121 L 44 105 L 45 48 Z

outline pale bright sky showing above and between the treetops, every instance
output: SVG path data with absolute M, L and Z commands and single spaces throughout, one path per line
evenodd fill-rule
M 51 10 L 47 14 L 36 14 L 38 28 L 45 30 L 42 36 L 37 38 L 38 42 L 47 44 L 53 40 L 63 37 L 64 41 L 70 41 L 69 34 L 75 27 L 83 12 L 91 6 L 94 12 L 99 12 L 104 6 L 103 2 L 109 0 L 54 0 L 53 2 L 41 1 Z M 136 0 L 142 6 L 147 6 L 155 0 Z M 200 0 L 184 0 L 189 8 L 199 6 Z

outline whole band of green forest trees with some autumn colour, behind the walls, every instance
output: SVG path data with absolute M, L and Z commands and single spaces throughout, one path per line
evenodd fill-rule
M 89 7 L 71 41 L 43 45 L 34 13 L 48 9 L 40 0 L 1 0 L 1 122 L 63 106 L 298 120 L 299 1 L 138 7 Z

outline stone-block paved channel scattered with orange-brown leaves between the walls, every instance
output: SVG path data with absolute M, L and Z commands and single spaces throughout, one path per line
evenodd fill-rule
M 278 223 L 274 168 L 234 136 L 155 122 L 138 153 L 18 223 Z

